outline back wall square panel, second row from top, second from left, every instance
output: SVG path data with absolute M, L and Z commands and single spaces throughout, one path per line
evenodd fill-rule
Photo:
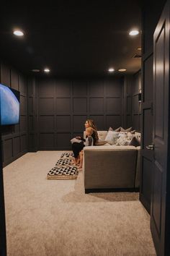
M 57 98 L 56 99 L 56 114 L 68 114 L 71 111 L 70 98 Z

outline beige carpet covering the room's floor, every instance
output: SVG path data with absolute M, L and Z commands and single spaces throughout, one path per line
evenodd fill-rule
M 48 180 L 61 153 L 27 153 L 4 168 L 7 255 L 156 255 L 138 193 L 85 195 L 82 173 Z

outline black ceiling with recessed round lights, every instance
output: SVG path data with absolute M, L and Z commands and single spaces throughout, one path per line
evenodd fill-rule
M 140 1 L 57 1 L 1 7 L 1 59 L 26 74 L 44 67 L 57 76 L 107 75 L 109 67 L 140 69 Z M 12 34 L 15 27 L 24 37 Z M 140 34 L 130 37 L 133 27 Z M 49 75 L 49 74 L 48 74 Z M 108 74 L 111 75 L 111 74 Z

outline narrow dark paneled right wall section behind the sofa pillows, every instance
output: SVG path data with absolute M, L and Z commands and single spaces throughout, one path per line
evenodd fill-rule
M 141 102 L 138 95 L 141 93 L 141 72 L 133 76 L 133 129 L 141 131 Z

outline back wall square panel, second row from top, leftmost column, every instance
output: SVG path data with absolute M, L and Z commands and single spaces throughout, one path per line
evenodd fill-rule
M 53 98 L 39 98 L 38 110 L 40 115 L 54 114 L 54 99 Z

